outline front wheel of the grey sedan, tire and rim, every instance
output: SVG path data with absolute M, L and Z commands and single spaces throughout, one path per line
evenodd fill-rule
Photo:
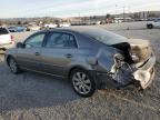
M 21 70 L 19 69 L 16 60 L 14 60 L 12 57 L 10 57 L 10 58 L 8 59 L 8 64 L 9 64 L 10 71 L 11 71 L 13 74 L 18 74 L 18 73 L 21 72 Z

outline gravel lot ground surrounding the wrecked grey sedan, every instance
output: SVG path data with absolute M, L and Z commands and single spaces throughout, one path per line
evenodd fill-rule
M 82 99 L 64 80 L 43 74 L 10 73 L 0 57 L 0 120 L 159 120 L 160 29 L 144 22 L 100 26 L 129 38 L 149 39 L 157 56 L 157 74 L 144 91 L 106 90 Z M 17 41 L 31 32 L 14 33 Z

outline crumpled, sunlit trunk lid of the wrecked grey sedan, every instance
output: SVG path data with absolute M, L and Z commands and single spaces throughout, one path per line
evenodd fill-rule
M 112 47 L 120 49 L 124 52 L 126 61 L 131 63 L 143 62 L 148 60 L 152 53 L 150 42 L 142 39 L 127 39 L 126 42 L 117 42 Z M 134 53 L 139 57 L 138 61 L 131 61 L 131 54 Z

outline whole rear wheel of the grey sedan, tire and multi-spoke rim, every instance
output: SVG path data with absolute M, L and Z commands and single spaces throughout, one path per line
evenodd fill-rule
M 96 82 L 86 70 L 73 70 L 70 74 L 70 81 L 76 93 L 83 98 L 91 97 L 96 91 Z

